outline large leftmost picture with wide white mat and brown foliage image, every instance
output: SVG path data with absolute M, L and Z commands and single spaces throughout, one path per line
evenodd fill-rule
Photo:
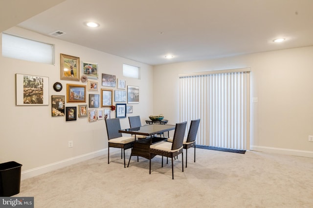
M 16 105 L 49 105 L 49 78 L 16 74 Z

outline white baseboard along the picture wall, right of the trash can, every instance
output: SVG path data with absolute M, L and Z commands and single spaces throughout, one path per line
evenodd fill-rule
M 37 176 L 37 175 L 41 175 L 41 174 L 44 174 L 44 173 L 49 172 L 49 171 L 53 171 L 53 170 L 57 170 L 57 169 L 60 169 L 60 168 L 64 168 L 66 166 L 73 165 L 73 164 L 76 164 L 76 163 L 79 163 L 79 162 L 82 162 L 82 161 L 85 161 L 85 160 L 89 160 L 89 159 L 92 159 L 94 157 L 98 157 L 98 156 L 104 155 L 107 152 L 108 152 L 108 149 L 103 149 L 103 150 L 99 150 L 99 151 L 93 151 L 93 152 L 89 152 L 87 154 L 83 154 L 83 155 L 79 155 L 79 156 L 76 156 L 76 157 L 68 158 L 66 160 L 62 160 L 62 161 L 59 161 L 59 162 L 51 163 L 51 164 L 48 164 L 48 165 L 45 165 L 45 166 L 41 166 L 41 167 L 38 167 L 38 168 L 25 170 L 25 171 L 22 171 L 22 173 L 21 173 L 21 180 L 24 180 L 24 179 L 27 179 L 27 178 L 31 178 L 31 177 L 34 177 L 34 176 Z

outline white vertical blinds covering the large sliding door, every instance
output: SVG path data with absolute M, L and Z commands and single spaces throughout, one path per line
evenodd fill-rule
M 198 145 L 246 150 L 249 72 L 245 68 L 179 75 L 179 120 L 201 118 Z

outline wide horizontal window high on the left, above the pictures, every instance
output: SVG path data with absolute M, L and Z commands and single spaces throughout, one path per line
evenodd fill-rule
M 54 45 L 2 33 L 2 56 L 54 64 Z

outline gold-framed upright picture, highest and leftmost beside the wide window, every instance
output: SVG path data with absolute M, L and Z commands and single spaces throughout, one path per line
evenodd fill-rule
M 62 80 L 79 81 L 79 57 L 60 54 L 60 75 Z

